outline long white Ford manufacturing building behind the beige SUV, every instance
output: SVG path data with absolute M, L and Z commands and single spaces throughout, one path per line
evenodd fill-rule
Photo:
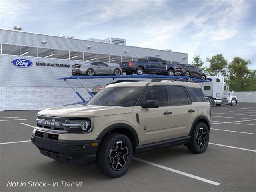
M 80 40 L 0 29 L 0 111 L 39 110 L 80 102 L 60 77 L 71 76 L 72 64 L 85 61 L 120 63 L 153 56 L 173 64 L 188 64 L 188 54 L 127 46 L 126 40 Z M 26 59 L 29 67 L 17 67 L 12 60 Z M 42 63 L 42 64 L 41 64 Z M 88 87 L 106 85 L 111 80 L 86 80 Z M 89 95 L 74 84 L 85 98 Z

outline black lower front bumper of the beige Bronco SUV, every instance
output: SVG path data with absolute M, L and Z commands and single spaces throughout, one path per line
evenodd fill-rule
M 31 141 L 41 154 L 76 165 L 88 165 L 95 161 L 100 140 L 64 141 L 31 136 Z M 98 143 L 92 146 L 92 143 Z

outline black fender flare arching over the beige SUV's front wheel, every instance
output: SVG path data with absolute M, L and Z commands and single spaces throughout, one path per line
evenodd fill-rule
M 128 130 L 130 133 L 132 133 L 132 135 L 134 136 L 134 140 L 135 140 L 135 145 L 138 146 L 139 145 L 139 137 L 137 132 L 135 131 L 135 129 L 125 123 L 116 123 L 116 124 L 112 124 L 110 126 L 108 126 L 107 128 L 105 128 L 97 137 L 97 140 L 102 140 L 102 138 L 108 134 L 108 132 L 114 130 L 114 129 L 118 129 L 118 128 L 122 128 L 125 130 Z

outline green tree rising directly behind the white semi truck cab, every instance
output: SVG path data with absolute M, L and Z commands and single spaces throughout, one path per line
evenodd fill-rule
M 214 76 L 226 76 L 226 67 L 228 65 L 228 61 L 223 57 L 222 54 L 217 54 L 212 56 L 211 58 L 207 58 L 208 62 L 210 62 L 210 66 L 207 68 L 208 74 Z

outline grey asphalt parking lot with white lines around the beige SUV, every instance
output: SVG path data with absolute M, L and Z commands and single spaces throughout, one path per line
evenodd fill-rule
M 211 109 L 206 152 L 192 154 L 177 146 L 136 155 L 116 179 L 93 164 L 70 165 L 40 154 L 30 142 L 38 111 L 0 112 L 0 191 L 256 191 L 256 104 Z M 29 187 L 29 181 L 47 184 Z M 64 187 L 61 181 L 83 183 Z M 19 186 L 22 182 L 26 187 Z

